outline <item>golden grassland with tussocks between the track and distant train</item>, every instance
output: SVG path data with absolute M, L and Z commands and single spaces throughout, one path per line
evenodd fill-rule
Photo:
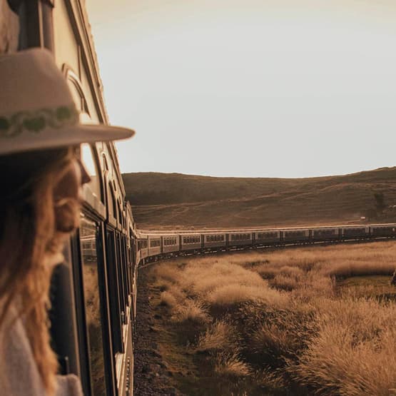
M 396 395 L 395 266 L 393 241 L 159 263 L 158 305 L 200 372 L 181 390 Z

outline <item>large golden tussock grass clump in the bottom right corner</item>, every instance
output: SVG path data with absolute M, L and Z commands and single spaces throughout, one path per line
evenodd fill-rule
M 322 395 L 390 395 L 396 387 L 396 331 L 357 342 L 350 328 L 323 325 L 295 367 L 295 379 Z

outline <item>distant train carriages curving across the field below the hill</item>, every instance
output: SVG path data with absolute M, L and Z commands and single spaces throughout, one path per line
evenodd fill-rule
M 395 237 L 395 223 L 255 230 L 197 230 L 180 233 L 157 231 L 138 233 L 137 261 L 150 262 L 174 255 L 218 250 Z

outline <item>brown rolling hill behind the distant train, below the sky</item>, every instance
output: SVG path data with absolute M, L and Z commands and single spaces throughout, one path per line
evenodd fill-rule
M 374 193 L 396 205 L 396 167 L 318 178 L 125 173 L 123 181 L 142 229 L 362 223 Z M 370 220 L 396 221 L 396 209 Z

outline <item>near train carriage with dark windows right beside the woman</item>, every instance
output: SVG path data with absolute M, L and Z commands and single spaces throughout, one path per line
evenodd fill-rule
M 82 121 L 108 123 L 84 1 L 0 0 L 0 12 L 0 52 L 49 49 Z M 131 395 L 137 275 L 131 206 L 113 143 L 81 151 L 92 180 L 84 186 L 81 227 L 54 272 L 51 336 L 61 373 L 78 375 L 84 395 Z

